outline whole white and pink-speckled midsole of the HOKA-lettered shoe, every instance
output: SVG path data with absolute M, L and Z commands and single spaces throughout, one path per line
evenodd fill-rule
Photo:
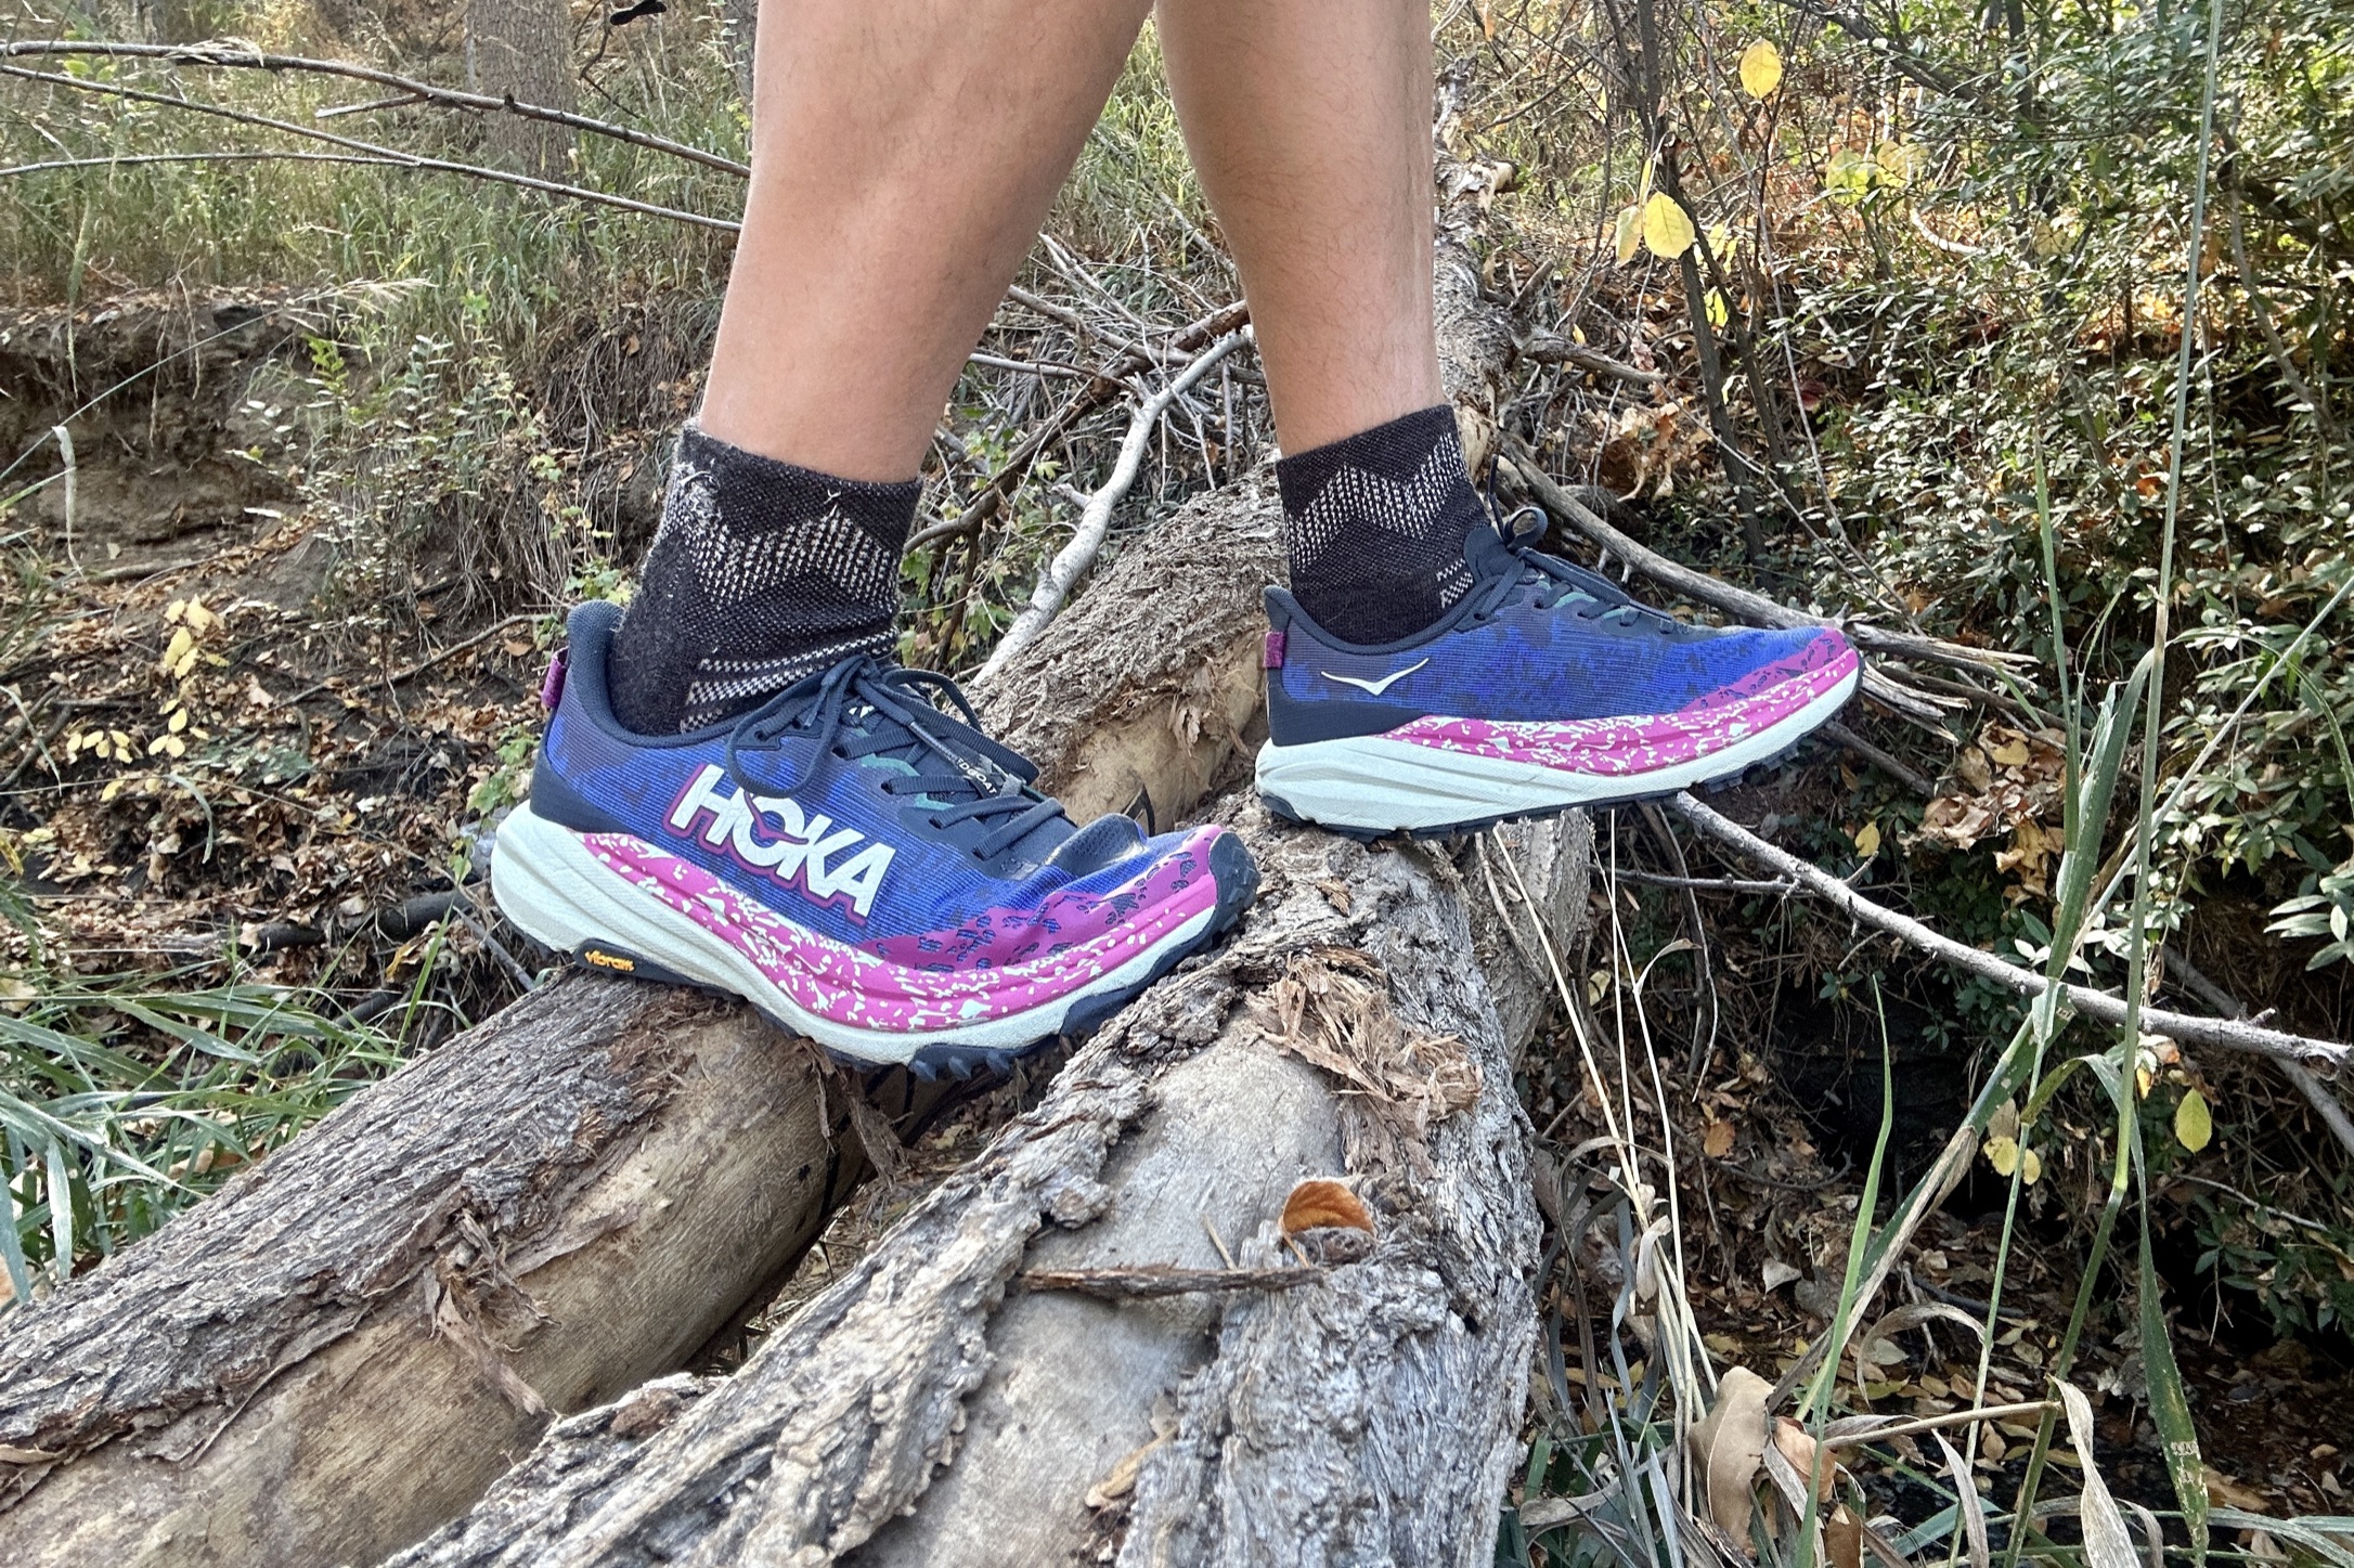
M 492 864 L 499 906 L 548 946 L 610 942 L 687 979 L 751 996 L 826 1045 L 906 1059 L 927 1043 L 1012 1048 L 1055 1034 L 1071 1003 L 1135 984 L 1217 913 L 1203 829 L 1198 873 L 1165 857 L 1121 895 L 1125 913 L 1066 946 L 996 968 L 899 963 L 807 930 L 718 876 L 629 833 L 577 833 L 518 810 Z

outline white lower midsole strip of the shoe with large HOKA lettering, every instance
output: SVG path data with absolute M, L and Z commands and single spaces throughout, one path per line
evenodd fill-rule
M 819 1045 L 878 1064 L 906 1062 L 925 1045 L 972 1045 L 979 1050 L 1033 1045 L 1059 1034 L 1078 1003 L 1142 984 L 1153 963 L 1170 949 L 1191 946 L 1217 918 L 1217 909 L 1210 906 L 1121 968 L 1026 1012 L 1008 1012 L 953 1029 L 897 1034 L 838 1024 L 805 1010 L 751 958 L 652 892 L 610 871 L 581 843 L 579 833 L 546 817 L 534 817 L 530 805 L 518 805 L 499 824 L 499 838 L 490 855 L 490 890 L 499 899 L 499 913 L 560 954 L 574 951 L 581 942 L 610 942 L 685 979 L 744 996 L 772 1019 Z

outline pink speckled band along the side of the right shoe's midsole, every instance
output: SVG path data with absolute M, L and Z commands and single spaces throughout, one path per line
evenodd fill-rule
M 1855 650 L 1801 669 L 1761 692 L 1702 699 L 1681 713 L 1634 718 L 1492 720 L 1417 718 L 1384 739 L 1532 763 L 1556 772 L 1634 777 L 1693 763 L 1763 735 L 1857 676 Z

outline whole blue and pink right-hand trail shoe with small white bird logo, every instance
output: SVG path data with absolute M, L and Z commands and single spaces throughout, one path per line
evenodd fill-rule
M 1523 513 L 1528 516 L 1528 513 Z M 1441 833 L 1737 777 L 1827 723 L 1862 664 L 1829 629 L 1714 631 L 1474 527 L 1474 589 L 1379 647 L 1266 591 L 1259 793 L 1342 833 Z

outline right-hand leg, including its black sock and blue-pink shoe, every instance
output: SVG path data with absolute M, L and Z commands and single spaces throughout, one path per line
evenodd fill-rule
M 1283 490 L 1259 789 L 1346 833 L 1655 796 L 1855 692 L 1836 631 L 1707 631 L 1499 534 L 1441 400 L 1424 0 L 1161 0 Z

